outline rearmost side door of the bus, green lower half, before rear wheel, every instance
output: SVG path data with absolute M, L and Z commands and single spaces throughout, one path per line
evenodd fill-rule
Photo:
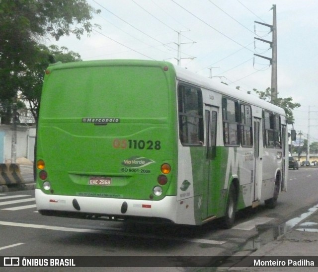
M 205 138 L 206 138 L 206 154 L 205 154 L 205 185 L 203 188 L 203 209 L 202 219 L 206 219 L 215 214 L 214 188 L 216 181 L 213 180 L 213 173 L 216 171 L 216 143 L 217 143 L 217 120 L 218 108 L 205 105 Z

